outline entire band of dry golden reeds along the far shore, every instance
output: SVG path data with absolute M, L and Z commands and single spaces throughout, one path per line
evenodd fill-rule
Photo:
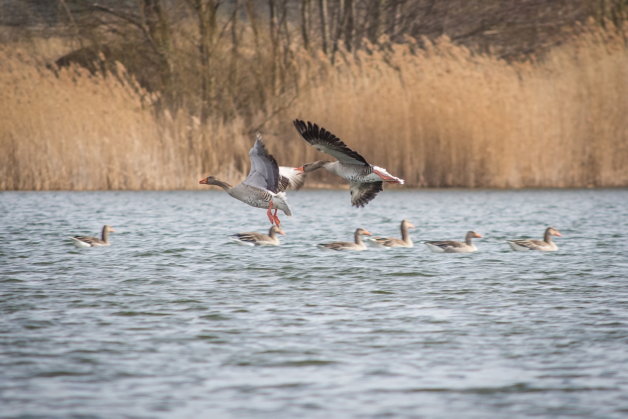
M 303 118 L 409 186 L 628 185 L 621 34 L 592 30 L 524 64 L 446 39 L 425 49 L 382 41 L 327 71 L 295 63 L 300 96 L 261 130 L 280 164 L 321 157 L 291 126 Z M 0 189 L 192 189 L 208 174 L 237 182 L 252 125 L 264 120 L 156 113 L 132 82 L 77 68 L 57 77 L 15 49 L 0 52 L 0 86 Z

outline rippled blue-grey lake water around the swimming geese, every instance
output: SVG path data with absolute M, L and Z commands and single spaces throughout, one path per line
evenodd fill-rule
M 281 246 L 240 247 L 265 211 L 215 189 L 0 193 L 0 416 L 628 416 L 625 189 L 289 199 Z M 403 218 L 413 249 L 313 246 Z M 557 252 L 502 241 L 548 225 Z

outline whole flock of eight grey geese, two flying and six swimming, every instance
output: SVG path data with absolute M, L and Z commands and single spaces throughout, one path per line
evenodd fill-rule
M 271 222 L 271 228 L 268 235 L 245 232 L 237 233 L 232 236 L 232 240 L 241 245 L 248 246 L 276 246 L 279 245 L 278 235 L 286 235 L 279 226 L 281 221 L 277 216 L 279 210 L 284 215 L 291 217 L 292 211 L 286 198 L 286 189 L 300 189 L 303 186 L 305 173 L 313 172 L 317 169 L 325 169 L 330 173 L 340 176 L 349 181 L 349 192 L 351 194 L 352 206 L 362 207 L 368 204 L 384 189 L 384 182 L 404 184 L 405 181 L 399 177 L 393 176 L 383 167 L 369 164 L 369 162 L 359 153 L 336 137 L 325 128 L 308 121 L 295 120 L 294 125 L 296 131 L 308 145 L 316 148 L 318 151 L 335 157 L 337 161 L 318 160 L 316 162 L 306 163 L 301 167 L 279 166 L 273 155 L 269 154 L 266 146 L 262 142 L 261 135 L 257 134 L 255 144 L 249 151 L 249 159 L 251 160 L 251 171 L 249 176 L 235 186 L 231 186 L 225 181 L 215 176 L 208 176 L 199 181 L 199 184 L 216 185 L 222 187 L 233 198 L 238 199 L 246 204 L 256 208 L 266 209 L 266 215 Z M 273 213 L 274 210 L 274 213 Z M 403 247 L 413 247 L 413 242 L 409 237 L 408 228 L 414 228 L 408 220 L 401 221 L 401 238 L 394 237 L 367 237 L 362 240 L 362 236 L 371 236 L 364 228 L 355 230 L 354 242 L 333 242 L 321 243 L 317 246 L 324 250 L 366 250 L 364 241 L 368 242 L 372 247 L 393 249 Z M 72 240 L 73 245 L 78 248 L 98 247 L 109 245 L 109 233 L 114 232 L 111 226 L 106 225 L 102 228 L 101 238 L 75 236 L 68 237 Z M 513 250 L 539 250 L 551 251 L 557 250 L 556 243 L 552 241 L 552 236 L 561 236 L 561 234 L 553 227 L 545 230 L 543 240 L 506 240 Z M 427 247 L 433 252 L 439 253 L 467 253 L 477 251 L 477 247 L 472 242 L 473 238 L 482 237 L 476 232 L 467 233 L 464 242 L 454 240 L 441 241 L 423 241 Z

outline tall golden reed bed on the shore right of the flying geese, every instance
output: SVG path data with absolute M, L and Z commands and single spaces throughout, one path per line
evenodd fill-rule
M 392 45 L 351 60 L 297 113 L 413 185 L 628 185 L 628 50 L 617 33 L 524 64 L 447 39 Z

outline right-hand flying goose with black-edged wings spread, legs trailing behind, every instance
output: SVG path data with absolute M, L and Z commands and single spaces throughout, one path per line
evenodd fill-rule
M 318 151 L 335 157 L 337 162 L 318 160 L 306 163 L 296 168 L 296 172 L 303 174 L 323 169 L 349 181 L 351 204 L 363 207 L 384 189 L 384 182 L 404 184 L 406 181 L 389 174 L 386 169 L 369 164 L 360 154 L 351 150 L 347 145 L 325 128 L 310 121 L 295 120 L 296 131 L 306 143 Z

